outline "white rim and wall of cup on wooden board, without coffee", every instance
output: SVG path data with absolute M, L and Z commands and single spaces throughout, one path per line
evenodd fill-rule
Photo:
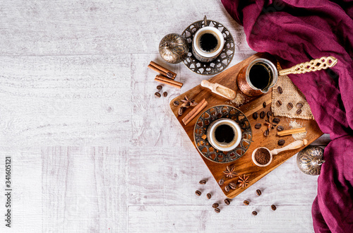
M 232 139 L 232 141 L 230 142 L 217 141 L 216 130 L 222 125 L 227 125 L 232 129 L 234 133 L 234 138 Z M 227 119 L 227 118 L 217 119 L 213 121 L 210 124 L 210 126 L 208 126 L 207 138 L 208 138 L 208 142 L 216 150 L 220 150 L 220 151 L 234 150 L 235 148 L 237 148 L 237 146 L 241 141 L 241 129 L 239 125 L 232 119 Z

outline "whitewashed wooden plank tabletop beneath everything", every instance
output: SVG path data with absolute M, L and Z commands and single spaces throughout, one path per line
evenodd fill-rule
M 13 158 L 13 222 L 0 232 L 313 231 L 317 177 L 302 174 L 295 156 L 225 206 L 169 109 L 209 77 L 163 63 L 164 35 L 207 15 L 232 32 L 231 66 L 255 53 L 219 0 L 16 0 L 1 1 L 0 12 L 0 171 Z M 151 60 L 184 87 L 164 85 L 169 95 L 155 99 Z

